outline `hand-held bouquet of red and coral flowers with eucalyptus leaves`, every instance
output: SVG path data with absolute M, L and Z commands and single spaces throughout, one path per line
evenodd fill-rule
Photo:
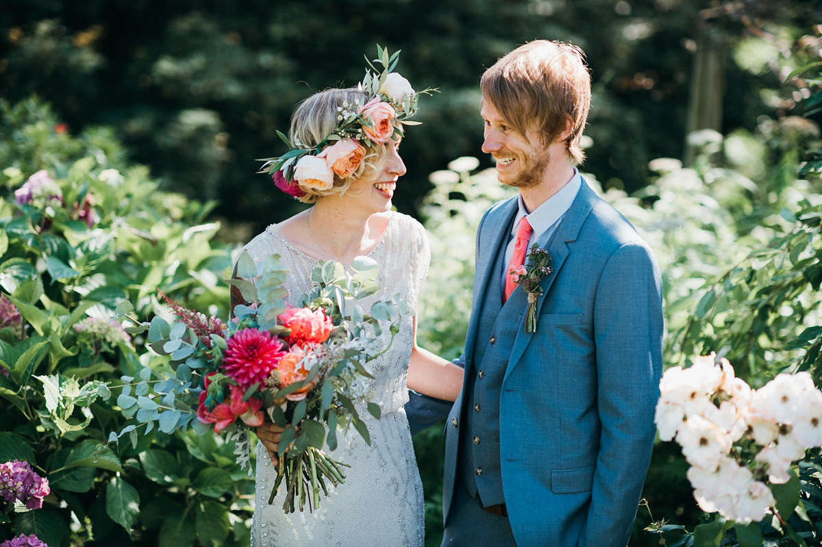
M 358 407 L 377 418 L 380 407 L 369 401 L 372 376 L 365 365 L 390 347 L 406 311 L 397 297 L 363 310 L 358 301 L 379 290 L 378 267 L 358 257 L 351 269 L 353 274 L 339 263 L 321 262 L 312 272 L 312 291 L 292 308 L 284 301 L 287 271 L 279 256 L 254 264 L 243 253 L 238 278 L 230 283 L 245 304 L 235 306 L 227 324 L 166 297 L 178 321 L 155 317 L 129 330 L 147 329 L 151 347 L 170 356 L 173 374 L 153 384 L 151 393 L 143 387 L 137 398 L 131 396 L 132 379 L 124 377 L 127 384 L 118 398 L 123 413 L 145 422 L 147 430 L 156 422 L 165 432 L 188 425 L 201 434 L 225 432 L 249 472 L 247 426 L 262 425 L 267 416 L 285 428 L 269 503 L 284 486 L 284 511 L 302 511 L 306 503 L 312 510 L 321 490 L 327 494 L 328 483 L 344 482 L 343 464 L 324 451 L 336 448 L 337 431 L 350 426 L 370 442 Z M 387 345 L 378 338 L 384 329 L 390 333 Z M 143 375 L 143 386 L 150 374 L 157 373 Z M 135 428 L 130 425 L 109 440 L 135 435 Z

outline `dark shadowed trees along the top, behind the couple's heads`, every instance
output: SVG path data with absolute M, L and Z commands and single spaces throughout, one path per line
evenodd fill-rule
M 216 214 L 247 223 L 234 232 L 244 240 L 298 210 L 255 174 L 256 159 L 281 153 L 275 131 L 287 132 L 300 99 L 356 85 L 374 44 L 403 51 L 398 69 L 417 89 L 441 90 L 423 98 L 423 126 L 403 146 L 409 172 L 395 205 L 418 216 L 427 174 L 477 154 L 479 76 L 516 45 L 584 48 L 594 92 L 586 168 L 631 192 L 649 160 L 684 152 L 696 51 L 723 66 L 709 84 L 724 112 L 713 128 L 754 126 L 792 99 L 771 93 L 784 76 L 774 52 L 734 46 L 762 33 L 797 38 L 820 16 L 817 2 L 794 0 L 7 0 L 0 96 L 38 94 L 72 133 L 113 127 L 161 186 L 218 200 Z

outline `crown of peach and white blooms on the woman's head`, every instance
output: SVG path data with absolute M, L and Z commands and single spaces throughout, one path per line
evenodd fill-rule
M 403 76 L 392 72 L 397 64 L 399 51 L 388 54 L 388 48 L 376 46 L 378 58 L 374 62 L 384 68 L 378 72 L 366 57 L 368 67 L 365 77 L 357 88 L 369 99 L 344 102 L 337 108 L 337 126 L 316 146 L 306 146 L 277 131 L 277 135 L 289 147 L 278 158 L 266 158 L 259 172 L 267 172 L 275 186 L 288 195 L 302 197 L 303 188 L 330 190 L 334 176 L 350 177 L 363 163 L 366 147 L 376 148 L 389 140 L 403 137 L 403 126 L 419 125 L 409 121 L 417 112 L 419 94 L 431 94 L 432 89 L 414 91 Z M 373 72 L 372 72 L 373 69 Z M 301 187 L 302 186 L 302 187 Z

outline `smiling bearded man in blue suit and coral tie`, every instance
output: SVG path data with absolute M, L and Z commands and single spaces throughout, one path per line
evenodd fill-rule
M 442 545 L 624 547 L 630 536 L 655 431 L 660 278 L 649 247 L 574 167 L 590 103 L 583 55 L 538 40 L 481 80 L 483 152 L 520 192 L 478 228 Z M 529 295 L 508 272 L 534 244 L 552 273 L 526 332 Z

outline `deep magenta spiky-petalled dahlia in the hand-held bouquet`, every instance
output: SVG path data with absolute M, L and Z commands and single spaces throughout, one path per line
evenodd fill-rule
M 283 342 L 267 330 L 242 329 L 225 341 L 223 369 L 245 391 L 269 377 L 284 356 Z

